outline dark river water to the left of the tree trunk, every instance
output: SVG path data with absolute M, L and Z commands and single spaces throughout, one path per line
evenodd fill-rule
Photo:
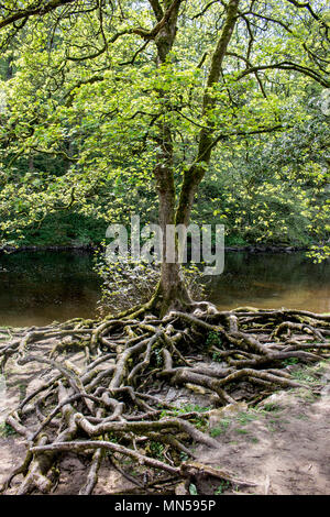
M 0 256 L 0 326 L 92 317 L 99 297 L 100 282 L 90 254 L 22 252 Z

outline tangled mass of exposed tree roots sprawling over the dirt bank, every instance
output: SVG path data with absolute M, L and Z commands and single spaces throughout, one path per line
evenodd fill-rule
M 80 494 L 92 493 L 102 464 L 144 493 L 173 491 L 183 479 L 199 476 L 243 484 L 194 463 L 191 444 L 217 447 L 208 433 L 211 407 L 234 404 L 243 387 L 245 398 L 255 400 L 276 387 L 302 386 L 290 375 L 293 359 L 311 363 L 330 355 L 329 316 L 254 308 L 219 312 L 202 302 L 189 314 L 158 319 L 146 309 L 102 321 L 0 329 L 3 373 L 30 364 L 47 373 L 41 386 L 28 386 L 7 418 L 28 451 L 2 492 L 18 475 L 18 494 L 54 491 L 61 462 L 73 453 L 89 463 Z M 169 384 L 201 391 L 208 407 L 199 413 L 169 404 Z M 138 464 L 138 476 L 125 471 L 123 459 Z

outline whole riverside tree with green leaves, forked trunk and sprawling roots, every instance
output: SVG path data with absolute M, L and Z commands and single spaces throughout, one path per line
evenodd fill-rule
M 25 160 L 29 166 L 25 154 L 64 160 L 52 188 L 43 185 L 50 176 L 33 176 L 30 163 L 32 176 L 19 191 L 23 207 L 12 210 L 13 219 L 26 212 L 31 195 L 36 202 L 33 215 L 25 216 L 30 222 L 42 220 L 55 204 L 80 202 L 86 212 L 95 210 L 89 197 L 102 193 L 108 176 L 119 195 L 127 182 L 136 195 L 153 174 L 162 229 L 187 227 L 213 157 L 241 148 L 242 142 L 253 148 L 256 135 L 272 135 L 274 145 L 282 134 L 293 136 L 293 127 L 306 113 L 293 102 L 295 96 L 311 81 L 317 95 L 329 87 L 329 24 L 321 2 L 10 0 L 0 12 L 2 47 L 10 53 L 20 48 L 16 77 L 6 82 L 12 86 L 9 105 L 12 95 L 18 98 L 12 106 L 20 106 L 9 110 L 2 131 L 6 172 L 15 179 L 20 169 L 13 164 Z M 296 170 L 290 182 L 299 176 Z M 285 170 L 273 173 L 280 185 Z M 4 209 L 6 197 L 15 194 L 14 183 L 9 190 L 4 187 Z M 100 321 L 4 330 L 3 369 L 16 360 L 58 374 L 7 419 L 29 441 L 29 450 L 3 490 L 23 473 L 18 493 L 48 492 L 52 465 L 63 453 L 78 452 L 90 463 L 80 492 L 89 494 L 103 451 L 110 451 L 114 466 L 129 457 L 165 471 L 174 482 L 184 477 L 198 484 L 200 475 L 211 475 L 239 484 L 228 473 L 182 462 L 179 453 L 194 454 L 187 447 L 191 441 L 211 448 L 217 442 L 198 410 L 164 400 L 162 382 L 202 387 L 216 406 L 234 404 L 241 381 L 267 391 L 274 385 L 300 387 L 282 369 L 293 359 L 308 363 L 327 356 L 329 319 L 287 309 L 219 312 L 194 302 L 179 264 L 165 260 L 156 292 L 143 307 Z M 66 353 L 77 350 L 85 354 L 80 369 L 65 361 Z M 217 361 L 227 365 L 215 367 Z M 151 395 L 156 383 L 160 391 Z M 41 424 L 36 418 L 31 431 L 30 415 L 41 417 L 40 407 L 47 416 Z M 197 418 L 202 431 L 191 424 Z M 142 435 L 139 442 L 136 435 Z M 142 443 L 139 451 L 136 443 Z M 170 447 L 172 464 L 165 455 L 160 460 L 152 454 L 155 443 L 158 453 L 164 444 Z

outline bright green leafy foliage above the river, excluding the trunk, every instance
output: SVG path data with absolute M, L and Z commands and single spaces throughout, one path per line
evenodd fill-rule
M 162 128 L 172 133 L 178 195 L 200 129 L 211 124 L 217 145 L 193 220 L 224 223 L 228 245 L 306 245 L 317 262 L 330 256 L 326 2 L 314 6 L 317 21 L 295 2 L 257 1 L 252 37 L 239 16 L 209 112 L 218 2 L 188 2 L 162 65 L 154 42 L 133 30 L 154 26 L 147 3 L 88 13 L 81 3 L 79 14 L 69 6 L 66 15 L 57 18 L 59 8 L 1 30 L 0 245 L 99 243 L 108 224 L 134 212 L 155 222 Z M 26 6 L 4 2 L 1 15 Z M 250 64 L 260 73 L 242 73 Z

